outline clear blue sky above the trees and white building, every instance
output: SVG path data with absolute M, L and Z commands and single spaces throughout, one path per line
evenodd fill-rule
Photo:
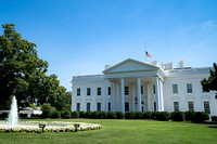
M 126 58 L 217 62 L 216 0 L 0 0 L 0 24 L 37 44 L 68 91 L 75 75 L 101 74 Z M 2 35 L 2 28 L 0 34 Z

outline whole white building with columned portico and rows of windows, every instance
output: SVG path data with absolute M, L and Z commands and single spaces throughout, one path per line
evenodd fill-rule
M 73 77 L 72 110 L 195 110 L 217 116 L 216 92 L 203 92 L 201 86 L 209 68 L 131 58 L 106 65 L 103 75 Z

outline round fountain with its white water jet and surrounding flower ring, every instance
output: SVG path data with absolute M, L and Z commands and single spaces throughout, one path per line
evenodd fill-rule
M 62 121 L 24 121 L 18 122 L 18 110 L 16 97 L 12 97 L 11 109 L 7 121 L 0 121 L 0 133 L 1 132 L 73 132 L 84 130 L 95 130 L 100 129 L 101 126 L 97 123 L 85 123 L 85 122 L 62 122 Z

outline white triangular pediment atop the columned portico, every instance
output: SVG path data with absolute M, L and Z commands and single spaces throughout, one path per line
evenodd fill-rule
M 149 71 L 156 69 L 158 69 L 158 67 L 154 65 L 128 58 L 105 69 L 103 73 L 113 74 L 113 73 L 130 73 L 130 71 Z

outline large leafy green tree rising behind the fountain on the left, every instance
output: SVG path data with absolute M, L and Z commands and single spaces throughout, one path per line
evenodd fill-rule
M 36 44 L 22 39 L 14 24 L 2 25 L 0 36 L 0 109 L 10 107 L 15 95 L 20 107 L 50 103 L 56 106 L 65 88 L 58 76 L 47 76 L 48 62 L 37 55 Z M 60 104 L 59 104 L 60 105 Z

